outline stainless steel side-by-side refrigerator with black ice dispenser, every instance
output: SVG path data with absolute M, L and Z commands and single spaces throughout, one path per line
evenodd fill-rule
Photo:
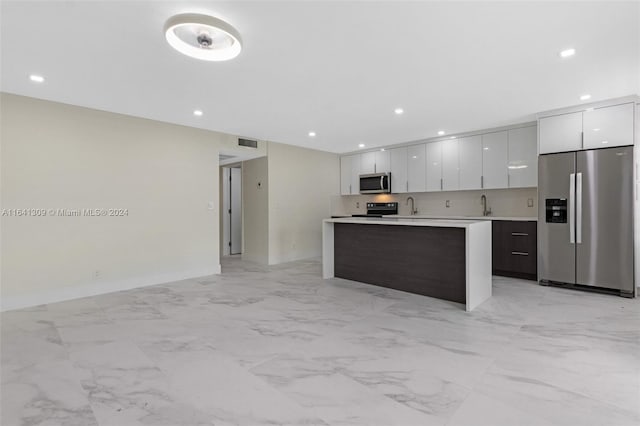
M 538 159 L 541 284 L 634 297 L 633 147 Z

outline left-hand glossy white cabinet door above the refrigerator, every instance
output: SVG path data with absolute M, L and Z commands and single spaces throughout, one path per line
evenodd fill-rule
M 540 154 L 582 149 L 582 112 L 541 118 L 538 126 Z

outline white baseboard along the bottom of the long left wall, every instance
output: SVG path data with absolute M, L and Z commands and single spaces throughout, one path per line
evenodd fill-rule
M 208 275 L 219 275 L 221 271 L 222 268 L 220 264 L 218 264 L 211 268 L 129 278 L 118 281 L 88 283 L 73 287 L 61 287 L 37 294 L 25 294 L 11 297 L 3 296 L 2 301 L 0 301 L 0 312 L 30 308 L 49 303 L 65 302 L 67 300 L 81 299 L 83 297 L 98 296 L 101 294 L 115 293 L 118 291 L 132 290 L 134 288 L 149 287 L 158 284 L 166 284 L 173 281 L 205 277 Z

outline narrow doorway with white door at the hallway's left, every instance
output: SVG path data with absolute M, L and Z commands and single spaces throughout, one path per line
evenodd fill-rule
M 242 169 L 222 168 L 222 254 L 242 254 Z

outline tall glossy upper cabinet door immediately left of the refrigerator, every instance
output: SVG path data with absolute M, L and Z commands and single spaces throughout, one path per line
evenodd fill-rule
M 509 188 L 538 186 L 536 126 L 509 130 Z

